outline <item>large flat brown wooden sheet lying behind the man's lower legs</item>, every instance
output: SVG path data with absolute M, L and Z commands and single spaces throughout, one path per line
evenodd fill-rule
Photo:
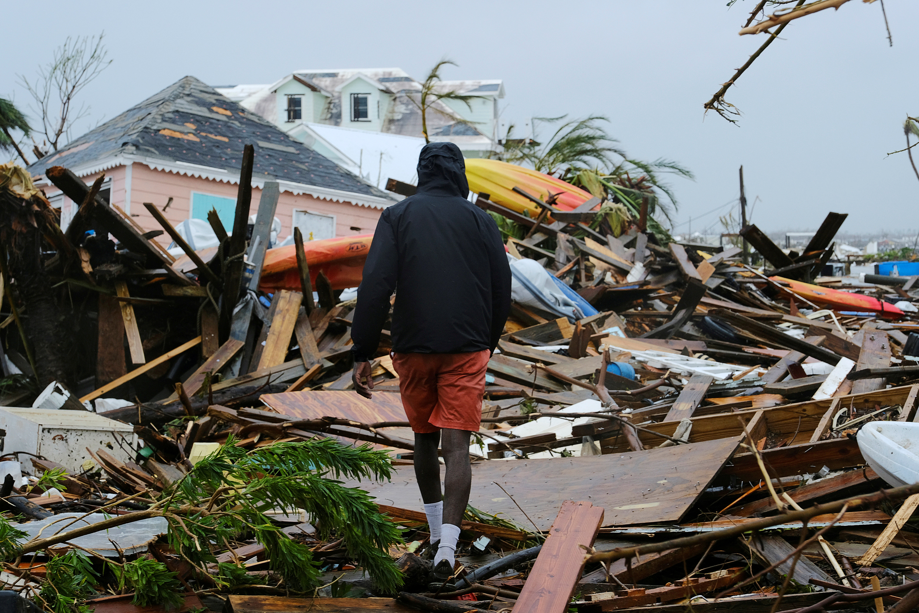
M 472 466 L 469 502 L 487 513 L 503 513 L 519 526 L 531 526 L 516 501 L 540 530 L 550 528 L 565 500 L 604 507 L 604 526 L 677 523 L 738 442 L 740 437 L 729 437 L 584 458 L 484 461 Z M 424 509 L 414 469 L 393 468 L 397 474 L 391 482 L 354 481 L 348 487 L 367 490 L 381 505 Z

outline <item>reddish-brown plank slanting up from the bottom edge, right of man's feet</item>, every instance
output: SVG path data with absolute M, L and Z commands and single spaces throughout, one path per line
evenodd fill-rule
M 514 610 L 563 613 L 584 568 L 584 548 L 594 545 L 603 524 L 603 507 L 566 500 L 527 576 Z

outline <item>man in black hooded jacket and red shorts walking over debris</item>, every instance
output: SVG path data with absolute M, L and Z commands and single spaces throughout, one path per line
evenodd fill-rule
M 470 433 L 479 430 L 485 368 L 510 311 L 501 233 L 468 194 L 459 147 L 426 144 L 417 193 L 380 215 L 351 326 L 355 390 L 370 398 L 368 360 L 395 290 L 392 365 L 414 430 L 414 473 L 437 548 L 431 577 L 437 586 L 453 574 L 472 481 Z M 438 443 L 447 464 L 443 497 Z

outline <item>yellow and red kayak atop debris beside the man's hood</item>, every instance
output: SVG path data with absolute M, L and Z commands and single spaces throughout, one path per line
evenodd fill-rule
M 529 211 L 530 217 L 536 217 L 541 210 L 526 197 L 514 191 L 520 187 L 528 194 L 542 199 L 549 198 L 549 194 L 560 194 L 555 201 L 555 207 L 560 210 L 573 210 L 594 198 L 592 194 L 571 183 L 554 176 L 544 175 L 532 168 L 524 168 L 516 164 L 508 164 L 498 160 L 482 158 L 469 158 L 466 160 L 466 179 L 469 188 L 475 193 L 485 192 L 490 195 L 490 200 L 495 204 L 516 210 L 522 213 Z

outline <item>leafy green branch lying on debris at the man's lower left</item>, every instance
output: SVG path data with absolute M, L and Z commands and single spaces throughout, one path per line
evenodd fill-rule
M 382 590 L 393 591 L 402 585 L 402 574 L 386 551 L 402 541 L 399 530 L 380 515 L 369 494 L 338 481 L 389 479 L 391 471 L 386 452 L 368 446 L 346 447 L 322 439 L 246 451 L 231 438 L 166 494 L 173 495 L 166 511 L 169 539 L 176 551 L 200 564 L 215 561 L 207 543 L 251 534 L 266 546 L 273 570 L 288 585 L 311 589 L 319 577 L 312 552 L 281 534 L 265 515 L 273 509 L 294 513 L 301 508 L 315 519 L 321 536 L 334 532 L 343 537 L 348 556 Z M 172 516 L 182 505 L 205 508 L 182 518 Z

